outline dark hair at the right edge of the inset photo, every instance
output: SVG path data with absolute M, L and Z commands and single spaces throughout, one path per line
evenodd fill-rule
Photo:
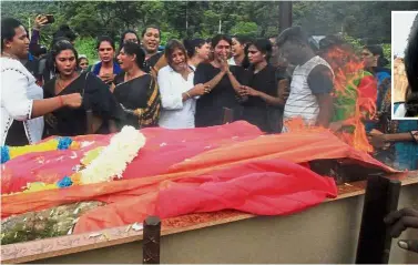
M 409 88 L 406 93 L 406 116 L 418 115 L 418 27 L 412 27 L 405 51 L 405 71 Z

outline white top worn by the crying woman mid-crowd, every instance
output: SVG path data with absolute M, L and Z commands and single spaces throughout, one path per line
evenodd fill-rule
M 170 65 L 159 71 L 159 86 L 162 102 L 159 125 L 166 129 L 194 128 L 196 112 L 196 98 L 183 102 L 182 94 L 191 90 L 194 72 L 187 75 L 187 80 L 175 72 Z

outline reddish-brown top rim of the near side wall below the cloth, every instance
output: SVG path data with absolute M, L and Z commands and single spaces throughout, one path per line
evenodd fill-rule
M 418 184 L 418 171 L 394 174 L 389 177 L 401 181 L 402 185 Z M 366 182 L 364 181 L 338 185 L 338 196 L 336 198 L 328 198 L 325 203 L 333 203 L 334 201 L 363 195 L 365 193 L 365 186 Z M 163 220 L 161 235 L 177 234 L 253 217 L 256 217 L 256 215 L 232 210 L 214 213 L 188 214 Z M 184 220 L 187 220 L 187 222 L 181 224 Z M 143 232 L 133 231 L 131 225 L 108 228 L 100 231 L 99 233 L 108 234 L 109 238 L 105 238 L 104 236 L 91 237 L 91 234 L 98 233 L 85 233 L 4 245 L 1 247 L 1 262 L 24 263 L 142 241 L 143 238 Z

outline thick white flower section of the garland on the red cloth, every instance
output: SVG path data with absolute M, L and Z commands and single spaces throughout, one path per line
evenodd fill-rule
M 124 126 L 112 136 L 110 144 L 84 170 L 80 171 L 81 184 L 91 184 L 121 179 L 126 165 L 145 145 L 145 136 L 133 126 Z

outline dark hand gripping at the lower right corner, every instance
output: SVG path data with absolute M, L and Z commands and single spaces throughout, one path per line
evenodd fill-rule
M 388 214 L 384 221 L 389 226 L 390 236 L 397 238 L 407 228 L 418 228 L 418 211 L 401 208 Z M 398 245 L 404 249 L 418 253 L 418 241 L 399 241 Z

